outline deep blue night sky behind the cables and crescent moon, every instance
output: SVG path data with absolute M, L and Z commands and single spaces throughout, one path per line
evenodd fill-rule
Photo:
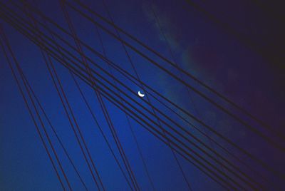
M 14 2 L 14 4 L 11 2 Z M 71 2 L 78 9 L 84 10 L 76 4 L 76 1 L 68 2 Z M 107 19 L 110 19 L 110 15 L 108 15 L 108 11 L 110 11 L 114 23 L 121 29 L 135 36 L 165 58 L 177 63 L 184 71 L 191 73 L 200 81 L 233 100 L 234 103 L 257 116 L 264 123 L 269 124 L 273 130 L 279 132 L 279 135 L 284 137 L 285 31 L 282 28 L 284 21 L 282 23 L 281 18 L 284 16 L 284 11 L 281 9 L 281 3 L 277 1 L 269 3 L 268 1 L 246 0 L 190 1 L 204 10 L 201 11 L 197 7 L 188 4 L 187 0 L 105 0 L 106 6 L 103 5 L 101 0 L 84 0 L 82 2 Z M 4 8 L 2 4 L 6 4 L 14 12 Z M 15 4 L 21 5 L 21 9 L 26 7 L 26 11 L 21 11 Z M 37 6 L 42 14 L 48 16 L 48 18 L 55 21 L 66 31 L 69 31 L 68 23 L 61 10 L 59 1 L 28 0 L 28 4 Z M 66 10 L 71 17 L 78 38 L 103 54 L 102 44 L 100 43 L 95 25 L 71 9 L 71 7 L 66 6 Z M 28 9 L 28 6 L 24 6 L 21 1 L 1 0 L 0 11 L 1 14 L 4 12 L 12 16 L 21 16 L 21 19 L 25 21 L 31 21 L 27 13 L 34 14 L 36 19 L 43 21 L 41 16 L 37 16 Z M 85 13 L 88 13 L 95 21 L 98 21 L 108 30 L 116 33 L 112 26 L 105 24 L 98 17 L 92 16 L 88 11 L 85 11 Z M 14 29 L 11 24 L 8 24 L 1 14 L 1 27 L 9 39 L 11 48 L 28 82 L 31 84 L 48 118 L 55 127 L 58 137 L 61 138 L 79 174 L 86 183 L 86 187 L 88 190 L 96 190 L 61 100 L 58 97 L 58 93 L 56 93 L 56 88 L 53 86 L 53 81 L 41 56 L 41 49 Z M 213 15 L 214 19 L 213 17 L 211 17 L 212 19 L 209 18 L 209 14 Z M 76 46 L 71 36 L 67 36 L 52 24 L 48 23 L 46 26 L 58 33 L 58 35 L 63 36 L 72 46 Z M 51 33 L 44 27 L 39 26 L 39 28 L 47 36 L 51 36 Z M 172 78 L 127 47 L 126 50 L 135 65 L 134 71 L 128 56 L 125 54 L 122 43 L 100 28 L 98 28 L 98 32 L 103 42 L 105 56 L 110 61 L 118 64 L 118 66 L 133 76 L 136 76 L 136 71 L 140 81 L 155 89 L 165 98 L 172 100 L 173 103 L 189 113 L 192 113 L 195 117 L 214 128 L 214 130 L 217 130 L 217 132 L 239 145 L 240 148 L 247 150 L 285 177 L 284 150 L 274 148 L 266 140 L 249 130 L 249 128 L 223 113 L 207 102 L 207 100 L 197 95 L 197 93 L 190 90 L 190 88 L 176 81 L 175 78 Z M 160 63 L 167 70 L 172 71 L 177 76 L 182 76 L 183 81 L 190 83 L 191 86 L 197 88 L 243 120 L 249 121 L 249 124 L 255 129 L 283 146 L 283 148 L 285 147 L 284 139 L 277 137 L 270 130 L 262 128 L 261 125 L 255 123 L 247 115 L 223 102 L 213 93 L 207 91 L 206 88 L 200 86 L 199 83 L 180 73 L 173 66 L 155 56 L 155 54 L 142 48 L 138 43 L 131 41 L 127 36 L 120 35 L 125 41 L 130 42 L 135 48 L 150 56 L 150 58 Z M 62 41 L 57 41 L 61 46 L 71 51 L 73 56 L 78 57 L 78 59 L 81 58 L 79 53 L 65 46 Z M 83 48 L 83 52 L 98 63 L 100 67 L 106 71 L 111 71 L 115 78 L 127 87 L 124 88 L 123 85 L 118 84 L 110 86 L 106 83 L 106 86 L 109 86 L 110 89 L 115 91 L 115 87 L 118 86 L 124 93 L 138 101 L 148 110 L 152 110 L 152 107 L 147 105 L 147 102 L 150 101 L 151 105 L 162 110 L 167 117 L 172 118 L 174 123 L 190 130 L 199 140 L 209 145 L 210 148 L 217 150 L 217 153 L 223 155 L 232 164 L 240 167 L 254 180 L 264 184 L 264 190 L 285 190 L 284 179 L 265 170 L 258 162 L 248 158 L 247 155 L 244 155 L 237 148 L 232 147 L 232 145 L 227 144 L 227 142 L 214 135 L 207 128 L 185 115 L 185 113 L 172 107 L 177 113 L 195 124 L 199 130 L 223 145 L 224 148 L 227 148 L 227 150 L 246 162 L 247 165 L 265 178 L 251 172 L 247 167 L 241 165 L 240 162 L 218 148 L 217 145 L 214 145 L 211 140 L 201 135 L 195 128 L 192 128 L 184 120 L 181 120 L 181 118 L 178 118 L 177 115 L 165 108 L 155 98 L 152 98 L 146 90 L 144 98 L 138 97 L 136 95 L 138 91 L 144 92 L 141 86 L 129 81 L 121 73 L 115 71 L 114 68 L 110 68 L 107 63 L 95 56 L 88 48 Z M 112 153 L 110 153 L 108 145 L 100 134 L 100 130 L 98 130 L 98 125 L 86 107 L 81 93 L 76 88 L 76 83 L 71 78 L 71 73 L 55 59 L 53 59 L 53 63 L 61 79 L 68 101 L 71 103 L 71 108 L 81 128 L 83 137 L 86 140 L 90 155 L 100 173 L 105 190 L 130 190 Z M 92 67 L 95 71 L 98 70 L 95 66 Z M 98 71 L 98 73 L 113 83 L 113 78 L 106 76 L 101 71 Z M 115 146 L 115 141 L 108 128 L 108 123 L 104 118 L 95 92 L 79 78 L 76 78 L 76 81 L 86 96 L 86 100 L 88 100 L 90 108 L 92 108 L 98 120 L 98 124 L 103 129 L 106 138 L 110 141 L 111 148 L 113 148 L 115 155 L 119 158 L 120 164 L 123 165 L 123 160 L 120 159 L 118 149 Z M 140 190 L 153 190 L 145 167 L 148 170 L 155 190 L 190 190 L 177 165 L 172 150 L 135 120 L 129 118 L 129 124 L 123 110 L 110 103 L 106 98 L 103 98 L 103 101 L 120 143 L 125 150 L 125 155 L 138 180 Z M 136 113 L 139 110 L 142 113 L 147 113 L 145 109 L 138 105 L 136 107 Z M 157 115 L 164 118 L 160 114 Z M 154 117 L 152 119 L 157 120 Z M 73 190 L 84 190 L 83 184 L 73 170 L 71 162 L 64 154 L 63 148 L 59 145 L 56 136 L 51 130 L 51 126 L 48 125 L 46 118 L 43 118 L 43 121 L 46 124 L 51 142 L 56 149 L 56 153 L 58 153 L 63 169 L 66 170 L 71 187 L 73 187 Z M 177 128 L 173 123 L 170 125 Z M 166 124 L 162 126 L 167 128 Z M 182 131 L 180 130 L 180 132 Z M 133 135 L 135 135 L 135 138 Z M 189 138 L 192 140 L 191 137 Z M 141 153 L 136 145 L 136 140 Z M 197 141 L 193 141 L 197 143 Z M 197 148 L 191 148 L 199 152 Z M 140 154 L 144 158 L 145 165 Z M 206 157 L 204 153 L 200 154 Z M 176 154 L 176 156 L 192 190 L 224 190 L 224 187 L 214 182 L 214 180 L 192 165 L 191 162 L 182 158 L 181 155 Z M 219 158 L 215 155 L 214 157 Z M 213 164 L 220 170 L 224 170 L 222 165 L 214 162 Z M 67 187 L 66 183 L 65 185 Z M 247 189 L 249 188 L 247 187 Z M 36 133 L 35 125 L 24 104 L 19 88 L 16 86 L 16 81 L 14 76 L 12 76 L 3 49 L 0 51 L 0 190 L 62 190 L 46 150 L 44 150 L 41 140 Z M 241 189 L 238 188 L 238 190 Z

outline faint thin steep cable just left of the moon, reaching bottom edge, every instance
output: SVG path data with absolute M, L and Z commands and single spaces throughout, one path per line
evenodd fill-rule
M 99 38 L 100 46 L 101 46 L 102 51 L 103 51 L 103 55 L 107 58 L 107 53 L 106 53 L 106 51 L 105 51 L 105 47 L 104 47 L 104 44 L 103 44 L 103 39 L 102 39 L 102 37 L 101 37 L 101 35 L 100 35 L 100 31 L 98 30 L 98 27 L 97 27 L 97 26 L 95 26 L 95 31 L 96 31 L 97 36 L 98 36 L 98 38 Z M 115 78 L 115 76 L 114 76 L 114 74 L 113 74 L 113 72 L 112 72 L 112 68 L 110 67 L 109 64 L 108 64 L 108 70 L 109 70 L 109 73 L 112 75 L 112 78 Z M 114 79 L 113 79 L 113 83 L 114 83 L 115 86 L 117 86 L 117 83 L 115 82 Z M 119 96 L 120 96 L 120 93 L 118 93 L 118 94 L 119 94 Z M 122 98 L 120 98 L 120 99 L 121 99 L 121 101 L 123 101 Z M 133 125 L 131 125 L 131 123 L 130 123 L 130 118 L 128 117 L 128 115 L 127 115 L 126 113 L 125 113 L 125 118 L 127 119 L 128 127 L 130 128 L 130 132 L 131 132 L 131 134 L 132 134 L 132 136 L 133 136 L 133 138 L 134 138 L 134 140 L 135 140 L 135 145 L 136 145 L 136 147 L 138 148 L 138 153 L 139 153 L 139 155 L 140 155 L 140 159 L 142 160 L 142 165 L 143 165 L 144 170 L 145 170 L 145 173 L 146 173 L 146 175 L 147 175 L 147 179 L 150 181 L 150 185 L 151 185 L 151 187 L 152 187 L 152 190 L 156 190 L 156 189 L 155 189 L 154 182 L 152 181 L 152 178 L 150 177 L 150 172 L 149 172 L 148 169 L 147 169 L 147 163 L 145 162 L 145 158 L 144 158 L 143 155 L 142 155 L 142 150 L 141 150 L 141 148 L 140 148 L 140 144 L 138 143 L 138 138 L 137 138 L 137 136 L 135 135 L 135 131 L 133 130 Z

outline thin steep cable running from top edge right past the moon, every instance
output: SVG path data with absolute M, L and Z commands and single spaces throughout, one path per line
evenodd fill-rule
M 105 0 L 102 0 L 102 2 L 103 2 L 103 6 L 104 6 L 105 10 L 106 10 L 107 13 L 108 13 L 108 16 L 109 16 L 109 18 L 110 18 L 110 21 L 112 22 L 112 24 L 115 24 L 115 22 L 114 22 L 114 20 L 113 20 L 113 16 L 110 14 L 110 11 L 109 11 L 109 9 L 108 9 L 107 4 L 105 3 Z M 97 26 L 96 26 L 96 27 L 97 27 Z M 118 38 L 122 39 L 121 36 L 120 36 L 120 33 L 118 32 L 118 30 L 117 30 L 116 28 L 114 28 L 114 29 L 115 29 L 115 32 L 116 32 L 116 35 L 118 36 Z M 138 81 L 140 82 L 140 87 L 141 87 L 142 90 L 145 92 L 145 88 L 144 88 L 144 86 L 142 86 L 142 83 L 141 83 L 141 80 L 140 80 L 140 76 L 138 75 L 138 71 L 136 70 L 135 65 L 134 65 L 134 63 L 133 63 L 133 61 L 132 61 L 132 58 L 130 57 L 130 53 L 128 53 L 128 50 L 127 50 L 127 48 L 125 47 L 125 44 L 122 43 L 122 41 L 120 41 L 120 43 L 121 43 L 121 45 L 123 46 L 123 49 L 124 49 L 124 51 L 125 51 L 125 55 L 127 56 L 128 61 L 130 62 L 130 65 L 131 65 L 132 68 L 133 68 L 133 71 L 135 72 L 135 76 L 137 77 Z M 105 57 L 106 57 L 106 56 L 105 56 Z M 153 114 L 156 116 L 156 118 L 157 118 L 157 114 L 156 114 L 155 110 L 153 109 L 152 103 L 151 103 L 150 98 L 149 98 L 149 96 L 148 96 L 147 94 L 146 94 L 146 98 L 147 98 L 148 103 L 150 103 L 150 107 L 152 108 L 152 113 L 153 113 Z M 158 118 L 157 118 L 157 123 L 158 123 L 159 125 L 161 125 L 160 120 L 159 120 Z M 162 131 L 162 133 L 165 133 L 165 132 Z M 187 177 L 186 177 L 186 175 L 185 175 L 185 172 L 184 172 L 184 170 L 183 170 L 183 168 L 182 168 L 182 165 L 181 165 L 179 159 L 177 158 L 177 155 L 175 154 L 175 152 L 172 150 L 171 147 L 170 147 L 170 150 L 171 150 L 171 153 L 172 153 L 173 157 L 175 158 L 175 162 L 177 163 L 177 166 L 178 166 L 178 168 L 179 168 L 179 170 L 180 170 L 180 172 L 181 172 L 181 174 L 182 174 L 182 176 L 183 176 L 183 178 L 184 178 L 184 180 L 185 180 L 185 182 L 186 182 L 186 184 L 187 184 L 187 187 L 189 188 L 189 190 L 192 190 L 192 188 L 191 188 L 191 186 L 190 186 L 190 182 L 187 180 Z

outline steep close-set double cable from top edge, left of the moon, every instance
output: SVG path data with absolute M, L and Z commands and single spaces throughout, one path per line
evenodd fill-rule
M 88 63 L 87 63 L 87 61 L 86 61 L 86 56 L 84 55 L 84 53 L 83 53 L 83 51 L 82 51 L 81 43 L 78 43 L 78 37 L 77 37 L 77 35 L 76 35 L 76 31 L 75 31 L 75 29 L 73 28 L 73 25 L 72 25 L 72 23 L 71 23 L 71 19 L 70 19 L 69 15 L 68 15 L 68 11 L 65 9 L 65 1 L 61 1 L 61 8 L 62 8 L 62 11 L 63 11 L 65 17 L 66 17 L 66 21 L 68 22 L 68 27 L 69 27 L 69 29 L 71 30 L 73 39 L 74 39 L 74 41 L 76 42 L 76 46 L 77 46 L 78 52 L 79 52 L 80 55 L 81 55 L 82 62 L 83 62 L 83 64 L 84 64 L 84 66 L 86 67 L 86 71 L 88 71 L 88 75 L 91 76 L 90 67 L 89 67 L 89 65 L 88 65 Z M 93 81 L 93 78 L 90 77 L 90 80 Z M 93 82 L 93 84 L 94 84 L 94 86 L 96 87 L 96 83 Z M 99 100 L 100 107 L 101 107 L 101 109 L 103 110 L 103 114 L 104 114 L 105 119 L 106 119 L 106 121 L 107 121 L 107 123 L 108 123 L 108 127 L 109 127 L 110 130 L 111 130 L 111 133 L 112 133 L 113 138 L 114 138 L 114 140 L 115 140 L 115 144 L 117 145 L 117 148 L 118 148 L 118 150 L 119 150 L 119 152 L 120 152 L 120 155 L 121 155 L 121 157 L 122 157 L 122 159 L 123 159 L 123 162 L 124 162 L 125 167 L 126 167 L 126 169 L 127 169 L 127 171 L 128 171 L 128 174 L 130 175 L 130 179 L 131 179 L 131 181 L 133 182 L 134 188 L 135 188 L 135 190 L 140 190 L 140 188 L 138 187 L 138 181 L 136 180 L 135 175 L 134 175 L 134 173 L 133 173 L 133 170 L 132 170 L 132 168 L 130 167 L 130 163 L 128 162 L 128 158 L 127 158 L 126 155 L 125 155 L 125 151 L 123 150 L 123 146 L 122 146 L 121 143 L 120 143 L 120 140 L 119 140 L 119 138 L 118 138 L 118 135 L 117 135 L 117 133 L 116 133 L 116 131 L 115 131 L 115 128 L 114 128 L 114 126 L 113 126 L 113 123 L 112 123 L 112 121 L 111 121 L 111 119 L 110 119 L 110 115 L 108 114 L 108 110 L 105 108 L 105 103 L 103 102 L 103 99 L 101 98 L 100 93 L 98 93 L 97 91 L 95 91 L 95 95 L 96 95 L 96 97 L 97 97 L 98 100 Z

